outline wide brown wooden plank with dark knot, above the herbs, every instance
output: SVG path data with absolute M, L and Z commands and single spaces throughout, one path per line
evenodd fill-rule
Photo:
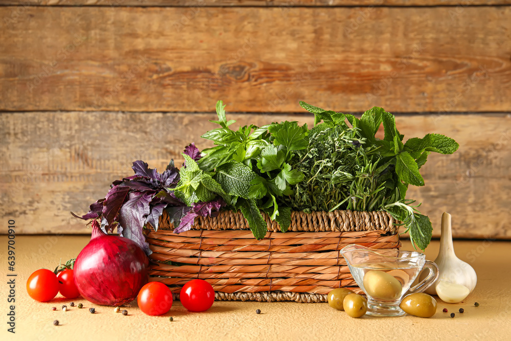
M 294 112 L 298 100 L 507 112 L 510 17 L 511 7 L 27 7 L 2 21 L 0 110 L 210 112 L 223 99 L 239 112 Z

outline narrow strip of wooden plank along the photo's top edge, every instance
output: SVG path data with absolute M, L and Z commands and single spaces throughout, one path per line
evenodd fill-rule
M 510 0 L 0 0 L 21 6 L 160 6 L 160 7 L 297 7 L 297 6 L 491 6 Z

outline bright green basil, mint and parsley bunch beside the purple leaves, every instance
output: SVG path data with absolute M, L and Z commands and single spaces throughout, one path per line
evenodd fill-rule
M 231 130 L 229 126 L 236 121 L 227 121 L 222 101 L 218 101 L 216 109 L 218 121 L 211 122 L 221 128 L 202 135 L 216 146 L 203 150 L 204 156 L 197 162 L 184 155 L 187 168 L 180 171 L 181 179 L 174 188 L 176 197 L 189 206 L 223 198 L 230 209 L 241 210 L 258 239 L 265 236 L 267 226 L 260 210 L 275 220 L 283 232 L 287 231 L 291 208 L 280 207 L 277 198 L 291 195 L 291 186 L 304 178 L 289 162 L 296 151 L 308 146 L 307 125 L 300 127 L 286 121 Z

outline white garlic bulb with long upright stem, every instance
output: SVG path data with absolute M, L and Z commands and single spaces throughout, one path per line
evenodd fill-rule
M 474 290 L 477 283 L 476 271 L 468 263 L 458 259 L 454 254 L 451 231 L 451 215 L 442 215 L 442 234 L 440 235 L 440 251 L 435 259 L 438 265 L 438 279 L 426 290 L 429 294 L 437 294 L 437 285 L 442 281 L 440 299 L 449 303 L 457 303 Z M 447 288 L 449 284 L 456 284 Z M 464 286 L 468 290 L 463 289 Z

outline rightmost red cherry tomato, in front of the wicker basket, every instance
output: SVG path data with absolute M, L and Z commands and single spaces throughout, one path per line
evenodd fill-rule
M 179 300 L 190 311 L 204 311 L 213 305 L 215 290 L 204 280 L 191 280 L 181 289 Z

